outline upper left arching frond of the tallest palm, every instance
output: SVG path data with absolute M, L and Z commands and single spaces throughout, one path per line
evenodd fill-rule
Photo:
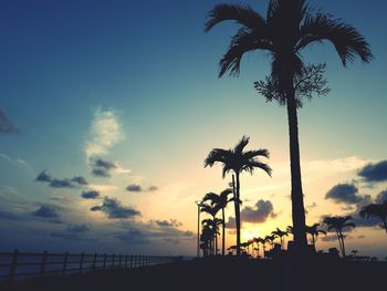
M 223 21 L 236 21 L 237 23 L 258 29 L 265 25 L 264 19 L 250 6 L 217 4 L 208 14 L 209 20 L 205 24 L 205 31 L 210 31 L 215 25 Z

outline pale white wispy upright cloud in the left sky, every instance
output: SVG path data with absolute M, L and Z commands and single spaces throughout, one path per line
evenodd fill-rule
M 97 108 L 90 127 L 90 141 L 84 148 L 87 159 L 106 155 L 124 137 L 116 113 L 112 110 Z

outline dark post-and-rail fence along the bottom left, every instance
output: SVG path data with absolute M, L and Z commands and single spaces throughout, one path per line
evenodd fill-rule
M 0 252 L 0 280 L 46 274 L 82 273 L 113 268 L 133 269 L 181 260 L 181 257 L 98 253 Z

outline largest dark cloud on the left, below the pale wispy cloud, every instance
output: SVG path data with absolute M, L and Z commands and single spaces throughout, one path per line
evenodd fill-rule
M 94 206 L 92 211 L 103 211 L 108 218 L 134 218 L 139 216 L 140 212 L 133 207 L 126 207 L 121 204 L 116 198 L 105 197 L 102 206 Z

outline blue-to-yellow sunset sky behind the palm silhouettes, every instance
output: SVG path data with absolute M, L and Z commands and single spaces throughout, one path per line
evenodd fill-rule
M 243 135 L 270 150 L 273 176 L 241 177 L 242 240 L 291 225 L 286 111 L 253 87 L 264 53 L 218 77 L 238 25 L 203 23 L 222 2 L 0 2 L 1 250 L 192 256 L 195 201 L 231 180 L 203 159 Z M 264 14 L 268 1 L 241 3 Z M 326 62 L 331 87 L 299 111 L 306 222 L 352 215 L 347 249 L 384 258 L 386 233 L 358 210 L 387 197 L 387 3 L 310 3 L 356 27 L 375 58 L 343 67 L 330 43 L 303 54 Z M 317 241 L 331 247 L 332 232 Z

